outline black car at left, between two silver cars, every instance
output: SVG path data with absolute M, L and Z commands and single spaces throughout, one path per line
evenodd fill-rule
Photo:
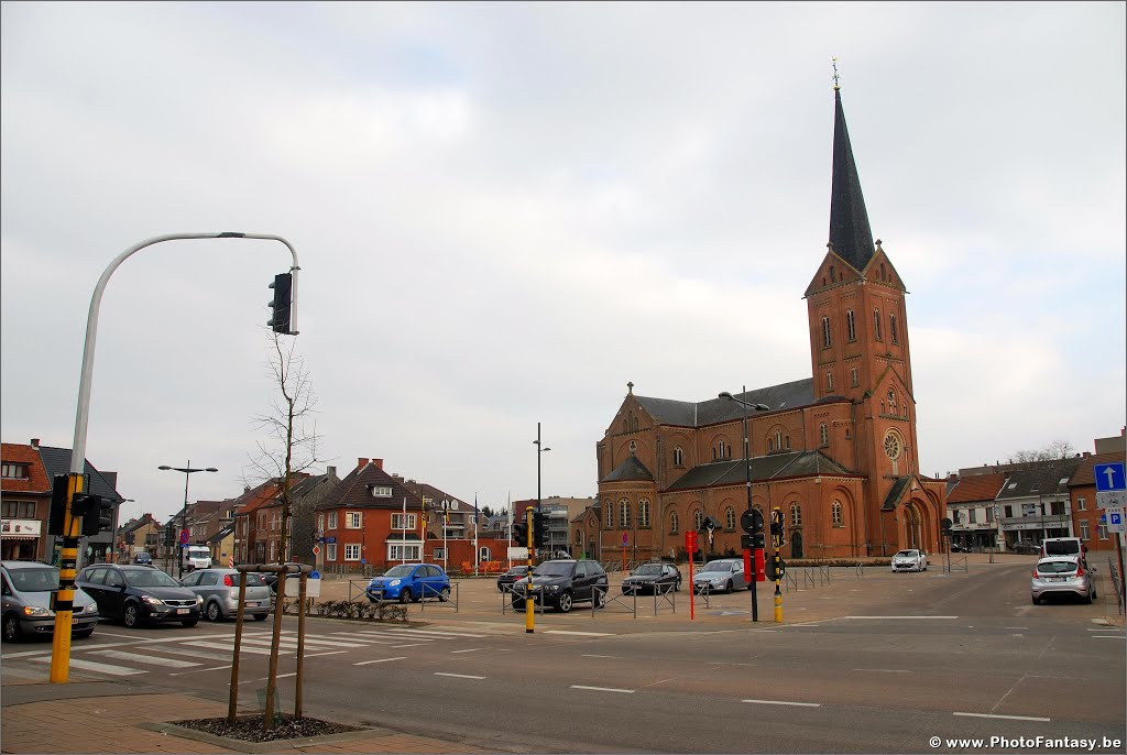
M 76 584 L 98 602 L 103 619 L 119 619 L 130 628 L 143 621 L 199 623 L 203 598 L 160 569 L 95 563 L 82 569 Z

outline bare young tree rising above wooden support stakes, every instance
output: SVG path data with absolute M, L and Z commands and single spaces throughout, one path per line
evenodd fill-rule
M 282 504 L 282 535 L 278 563 L 284 563 L 290 550 L 290 519 L 293 517 L 291 491 L 294 476 L 323 462 L 318 459 L 316 407 L 305 362 L 296 350 L 295 338 L 283 338 L 269 331 L 266 370 L 278 389 L 270 400 L 270 409 L 254 418 L 256 429 L 265 439 L 256 442 L 257 452 L 248 454 L 249 474 L 245 478 L 278 481 L 278 500 Z

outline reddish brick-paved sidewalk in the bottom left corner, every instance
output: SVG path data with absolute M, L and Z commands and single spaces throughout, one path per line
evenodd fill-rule
M 481 753 L 456 741 L 391 729 L 274 743 L 220 740 L 168 721 L 227 716 L 227 704 L 166 689 L 91 681 L 70 674 L 51 684 L 43 674 L 2 669 L 2 753 Z M 250 711 L 240 711 L 240 714 Z

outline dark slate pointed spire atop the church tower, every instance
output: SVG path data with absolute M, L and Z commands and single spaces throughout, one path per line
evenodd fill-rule
M 836 61 L 836 59 L 835 59 Z M 833 185 L 829 197 L 829 246 L 834 254 L 863 272 L 872 259 L 872 230 L 869 213 L 864 210 L 861 179 L 853 161 L 853 148 L 845 127 L 842 94 L 837 86 L 837 66 L 834 65 L 834 162 Z

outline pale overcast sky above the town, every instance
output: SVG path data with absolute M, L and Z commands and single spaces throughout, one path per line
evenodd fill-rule
M 2 6 L 2 438 L 70 447 L 90 296 L 150 237 L 286 238 L 321 455 L 504 506 L 596 491 L 635 383 L 810 376 L 831 57 L 911 292 L 924 473 L 1125 424 L 1124 3 Z M 100 310 L 88 459 L 241 492 L 278 243 L 177 241 Z

